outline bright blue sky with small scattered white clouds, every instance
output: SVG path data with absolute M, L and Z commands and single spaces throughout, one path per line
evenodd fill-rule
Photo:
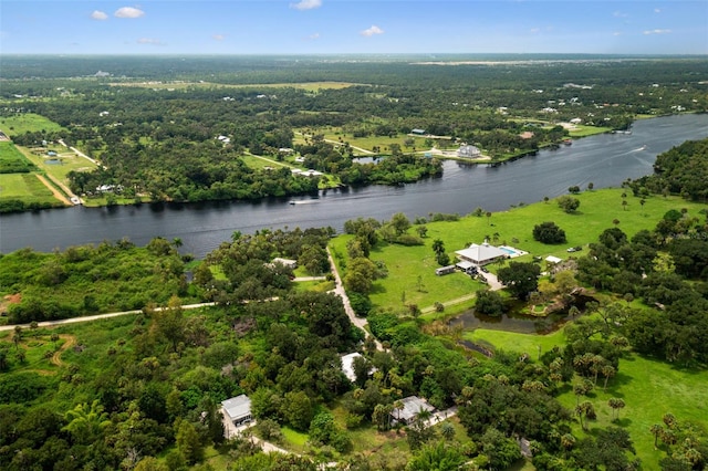
M 708 54 L 708 1 L 2 0 L 0 53 Z

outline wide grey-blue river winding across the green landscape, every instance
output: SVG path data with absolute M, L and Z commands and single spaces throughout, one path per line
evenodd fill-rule
M 402 187 L 371 186 L 321 191 L 319 195 L 256 202 L 140 205 L 112 208 L 73 207 L 0 216 L 0 252 L 24 247 L 38 251 L 115 241 L 138 245 L 162 236 L 180 238 L 185 253 L 202 258 L 235 231 L 262 228 L 331 226 L 341 231 L 357 217 L 409 218 L 430 212 L 467 214 L 477 207 L 500 211 L 585 188 L 617 187 L 626 178 L 653 171 L 658 154 L 689 139 L 708 137 L 708 114 L 679 115 L 636 122 L 632 134 L 603 134 L 542 150 L 499 167 L 446 161 L 440 178 Z

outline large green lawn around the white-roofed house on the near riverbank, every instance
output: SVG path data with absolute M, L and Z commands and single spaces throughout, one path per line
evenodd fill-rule
M 615 219 L 620 221 L 617 227 L 632 237 L 642 229 L 654 229 L 669 209 L 686 208 L 689 216 L 702 218 L 698 211 L 706 207 L 678 197 L 660 196 L 647 198 L 644 207 L 639 205 L 638 198 L 628 196 L 627 206 L 623 207 L 623 191 L 622 189 L 603 189 L 576 195 L 581 206 L 579 211 L 572 214 L 564 212 L 555 201 L 550 200 L 548 203 L 538 202 L 496 212 L 489 218 L 467 216 L 455 222 L 427 223 L 425 245 L 388 244 L 372 251 L 371 259 L 383 261 L 389 272 L 386 279 L 374 283 L 372 302 L 382 308 L 399 310 L 404 304 L 412 303 L 424 308 L 436 301 L 446 302 L 458 299 L 485 286 L 459 272 L 436 276 L 435 269 L 438 264 L 431 249 L 433 241 L 436 239 L 444 242 L 451 260 L 455 259 L 456 250 L 464 249 L 470 243 L 481 243 L 485 239 L 489 239 L 492 244 L 512 245 L 529 252 L 527 255 L 513 259 L 514 261 L 529 262 L 532 257 L 548 255 L 568 259 L 572 257 L 566 252 L 568 248 L 576 245 L 586 248 L 589 243 L 597 240 L 602 231 L 612 228 Z M 548 245 L 533 240 L 533 227 L 545 221 L 553 221 L 563 229 L 568 243 Z M 414 233 L 413 229 L 410 233 Z M 331 247 L 346 257 L 346 242 L 350 239 L 351 236 L 341 236 L 331 242 Z M 496 272 L 499 266 L 494 264 L 489 269 Z M 469 305 L 471 302 L 467 304 Z

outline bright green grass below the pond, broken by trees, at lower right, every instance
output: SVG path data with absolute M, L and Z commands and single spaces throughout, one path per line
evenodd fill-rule
M 565 343 L 562 331 L 532 335 L 479 328 L 465 333 L 464 337 L 496 349 L 528 353 L 532 360 L 538 359 L 539 346 L 544 353 Z M 679 422 L 691 421 L 708 428 L 708 370 L 681 369 L 678 365 L 626 354 L 620 360 L 617 376 L 610 379 L 606 390 L 603 390 L 603 384 L 604 378 L 601 377 L 597 387 L 587 397 L 581 398 L 581 401 L 593 402 L 597 420 L 590 422 L 587 432 L 576 422 L 573 435 L 581 439 L 593 435 L 596 428 L 622 427 L 629 432 L 645 470 L 658 470 L 658 461 L 666 456 L 663 447 L 654 449 L 654 436 L 649 432 L 653 423 L 662 423 L 665 414 L 673 414 Z M 614 422 L 613 411 L 607 406 L 611 397 L 622 398 L 626 404 Z M 570 386 L 563 387 L 559 400 L 571 410 L 577 404 Z

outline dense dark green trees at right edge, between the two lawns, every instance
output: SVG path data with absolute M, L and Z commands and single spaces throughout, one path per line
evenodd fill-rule
M 605 310 L 605 325 L 644 355 L 686 365 L 708 360 L 708 237 L 705 214 L 668 211 L 633 238 L 605 230 L 579 260 L 580 281 L 647 307 Z

